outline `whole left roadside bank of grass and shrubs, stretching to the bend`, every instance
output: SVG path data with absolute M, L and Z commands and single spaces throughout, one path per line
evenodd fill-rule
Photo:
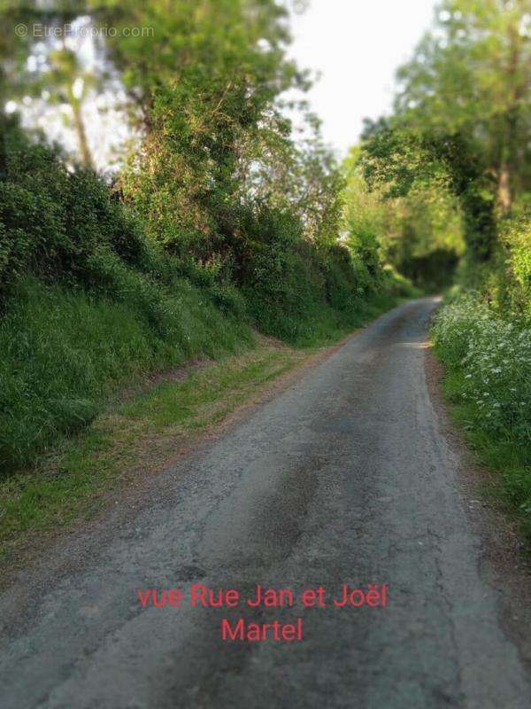
M 315 345 L 392 302 L 379 266 L 307 238 L 293 206 L 227 206 L 217 253 L 212 240 L 185 250 L 173 214 L 176 249 L 146 235 L 119 190 L 1 120 L 2 471 L 32 464 L 142 372 L 248 346 L 251 322 Z

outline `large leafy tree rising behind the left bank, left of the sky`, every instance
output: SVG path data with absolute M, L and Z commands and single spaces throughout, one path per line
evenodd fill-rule
M 145 136 L 124 194 L 173 253 L 224 257 L 244 176 L 266 144 L 289 138 L 277 99 L 304 81 L 286 58 L 286 11 L 273 0 L 127 0 L 109 12 L 118 30 L 152 29 L 108 41 Z

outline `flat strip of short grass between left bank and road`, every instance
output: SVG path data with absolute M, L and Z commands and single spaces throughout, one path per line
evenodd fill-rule
M 179 379 L 163 379 L 115 403 L 33 470 L 0 483 L 0 557 L 28 533 L 90 516 L 106 491 L 165 464 L 194 432 L 227 417 L 307 356 L 261 340 L 246 354 L 180 371 Z

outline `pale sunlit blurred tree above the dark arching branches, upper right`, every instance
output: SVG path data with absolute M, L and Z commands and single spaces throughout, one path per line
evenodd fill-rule
M 508 212 L 529 187 L 531 0 L 444 0 L 435 29 L 397 76 L 396 113 L 460 136 Z M 486 183 L 486 181 L 484 181 Z

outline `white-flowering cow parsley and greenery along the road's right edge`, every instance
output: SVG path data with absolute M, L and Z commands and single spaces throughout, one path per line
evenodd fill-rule
M 460 420 L 531 534 L 530 323 L 469 294 L 441 310 L 432 333 Z

